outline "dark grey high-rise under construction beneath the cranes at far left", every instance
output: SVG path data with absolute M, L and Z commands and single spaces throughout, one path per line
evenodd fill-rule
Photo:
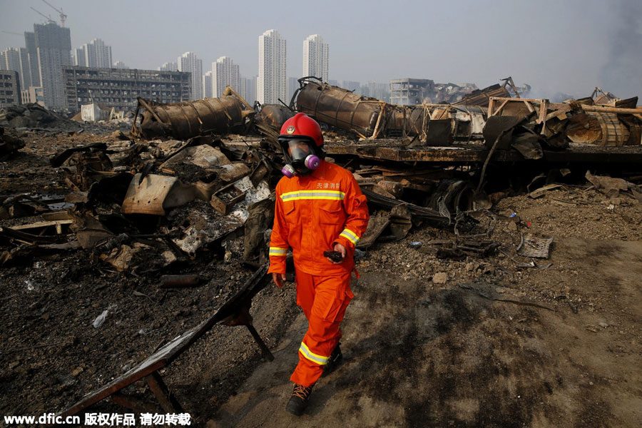
M 34 24 L 34 33 L 45 106 L 64 108 L 62 67 L 71 65 L 71 31 L 54 22 Z

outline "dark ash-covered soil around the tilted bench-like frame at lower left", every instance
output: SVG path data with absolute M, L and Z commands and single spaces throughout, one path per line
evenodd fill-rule
M 242 247 L 239 250 L 242 254 Z M 0 407 L 4 414 L 68 407 L 212 315 L 252 273 L 238 262 L 223 263 L 211 255 L 198 270 L 185 271 L 198 272 L 202 285 L 166 290 L 159 288 L 160 275 L 108 272 L 87 259 L 79 252 L 3 269 Z M 253 311 L 268 346 L 274 345 L 280 323 L 293 311 L 291 296 L 283 299 L 281 294 L 272 289 L 261 294 L 278 319 Z M 103 325 L 94 328 L 93 321 L 105 310 Z M 179 399 L 183 394 L 189 397 L 183 400 L 187 409 L 205 406 L 207 412 L 230 392 L 228 386 L 221 390 L 218 382 L 201 385 L 203 374 L 235 382 L 259 358 L 245 327 L 220 326 L 162 373 L 168 374 L 167 382 Z M 190 382 L 198 383 L 198 389 Z

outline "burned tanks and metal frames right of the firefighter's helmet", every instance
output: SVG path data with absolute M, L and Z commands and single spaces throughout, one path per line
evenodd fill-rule
M 296 108 L 330 126 L 355 132 L 361 138 L 408 136 L 418 138 L 427 146 L 484 139 L 488 142 L 484 128 L 490 117 L 510 116 L 518 121 L 534 112 L 536 115 L 529 118 L 529 123 L 542 138 L 561 136 L 573 143 L 599 146 L 641 143 L 642 109 L 635 108 L 637 98 L 611 107 L 597 106 L 592 98 L 551 103 L 546 99 L 498 97 L 497 91 L 507 92 L 503 87 L 491 88 L 456 104 L 396 106 L 308 80 L 301 81 Z M 467 105 L 467 102 L 477 105 Z

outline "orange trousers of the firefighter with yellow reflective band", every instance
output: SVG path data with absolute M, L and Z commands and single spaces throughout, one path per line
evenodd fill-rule
M 299 364 L 290 380 L 310 387 L 323 373 L 323 367 L 341 339 L 339 323 L 350 300 L 350 272 L 340 276 L 317 276 L 296 270 L 297 305 L 308 327 L 299 347 Z

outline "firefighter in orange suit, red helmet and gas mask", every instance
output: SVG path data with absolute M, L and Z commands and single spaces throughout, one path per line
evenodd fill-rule
M 286 410 L 300 416 L 317 379 L 342 358 L 339 323 L 354 297 L 350 291 L 353 255 L 370 215 L 352 173 L 324 161 L 323 136 L 314 119 L 297 113 L 283 124 L 279 143 L 287 165 L 276 187 L 267 272 L 282 287 L 285 255 L 292 248 L 297 305 L 308 328 L 290 377 L 295 387 Z M 326 250 L 340 257 L 331 260 L 323 254 Z

